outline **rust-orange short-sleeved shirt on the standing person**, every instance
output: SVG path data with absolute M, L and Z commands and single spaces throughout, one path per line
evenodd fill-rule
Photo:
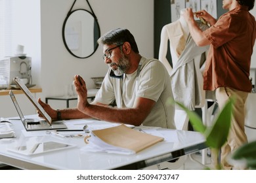
M 230 87 L 251 92 L 249 70 L 256 39 L 256 23 L 247 7 L 236 7 L 203 31 L 211 41 L 203 73 L 203 89 Z

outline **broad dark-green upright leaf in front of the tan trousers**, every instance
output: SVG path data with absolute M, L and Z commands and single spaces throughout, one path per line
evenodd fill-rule
M 233 103 L 234 99 L 230 99 L 215 119 L 213 127 L 205 130 L 206 144 L 208 146 L 220 149 L 226 142 L 231 124 Z

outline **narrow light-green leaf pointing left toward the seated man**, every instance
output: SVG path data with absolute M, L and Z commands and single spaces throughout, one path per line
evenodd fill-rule
M 205 125 L 203 125 L 202 119 L 200 118 L 200 116 L 198 116 L 198 114 L 196 114 L 196 112 L 192 110 L 188 110 L 188 108 L 184 107 L 184 105 L 182 105 L 177 101 L 169 100 L 169 102 L 176 103 L 177 105 L 179 105 L 179 107 L 181 107 L 186 112 L 186 114 L 188 114 L 189 120 L 196 131 L 200 133 L 205 132 L 206 127 Z

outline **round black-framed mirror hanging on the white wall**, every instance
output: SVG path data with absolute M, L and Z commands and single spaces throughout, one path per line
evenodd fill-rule
M 62 27 L 64 44 L 73 56 L 88 58 L 98 48 L 100 27 L 95 16 L 84 9 L 77 9 L 66 17 Z

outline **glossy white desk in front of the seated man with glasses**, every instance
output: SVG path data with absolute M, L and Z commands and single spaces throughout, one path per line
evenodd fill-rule
M 96 121 L 100 124 L 103 122 Z M 159 142 L 135 155 L 108 154 L 102 152 L 84 152 L 83 138 L 57 138 L 51 135 L 24 137 L 20 121 L 12 121 L 15 139 L 0 139 L 0 161 L 20 169 L 142 169 L 163 161 L 177 158 L 206 148 L 204 137 L 194 131 L 177 131 L 179 142 Z M 166 129 L 171 130 L 171 129 Z M 53 139 L 54 138 L 54 139 Z M 21 141 L 58 141 L 76 144 L 75 148 L 59 150 L 36 156 L 22 156 L 7 150 Z

